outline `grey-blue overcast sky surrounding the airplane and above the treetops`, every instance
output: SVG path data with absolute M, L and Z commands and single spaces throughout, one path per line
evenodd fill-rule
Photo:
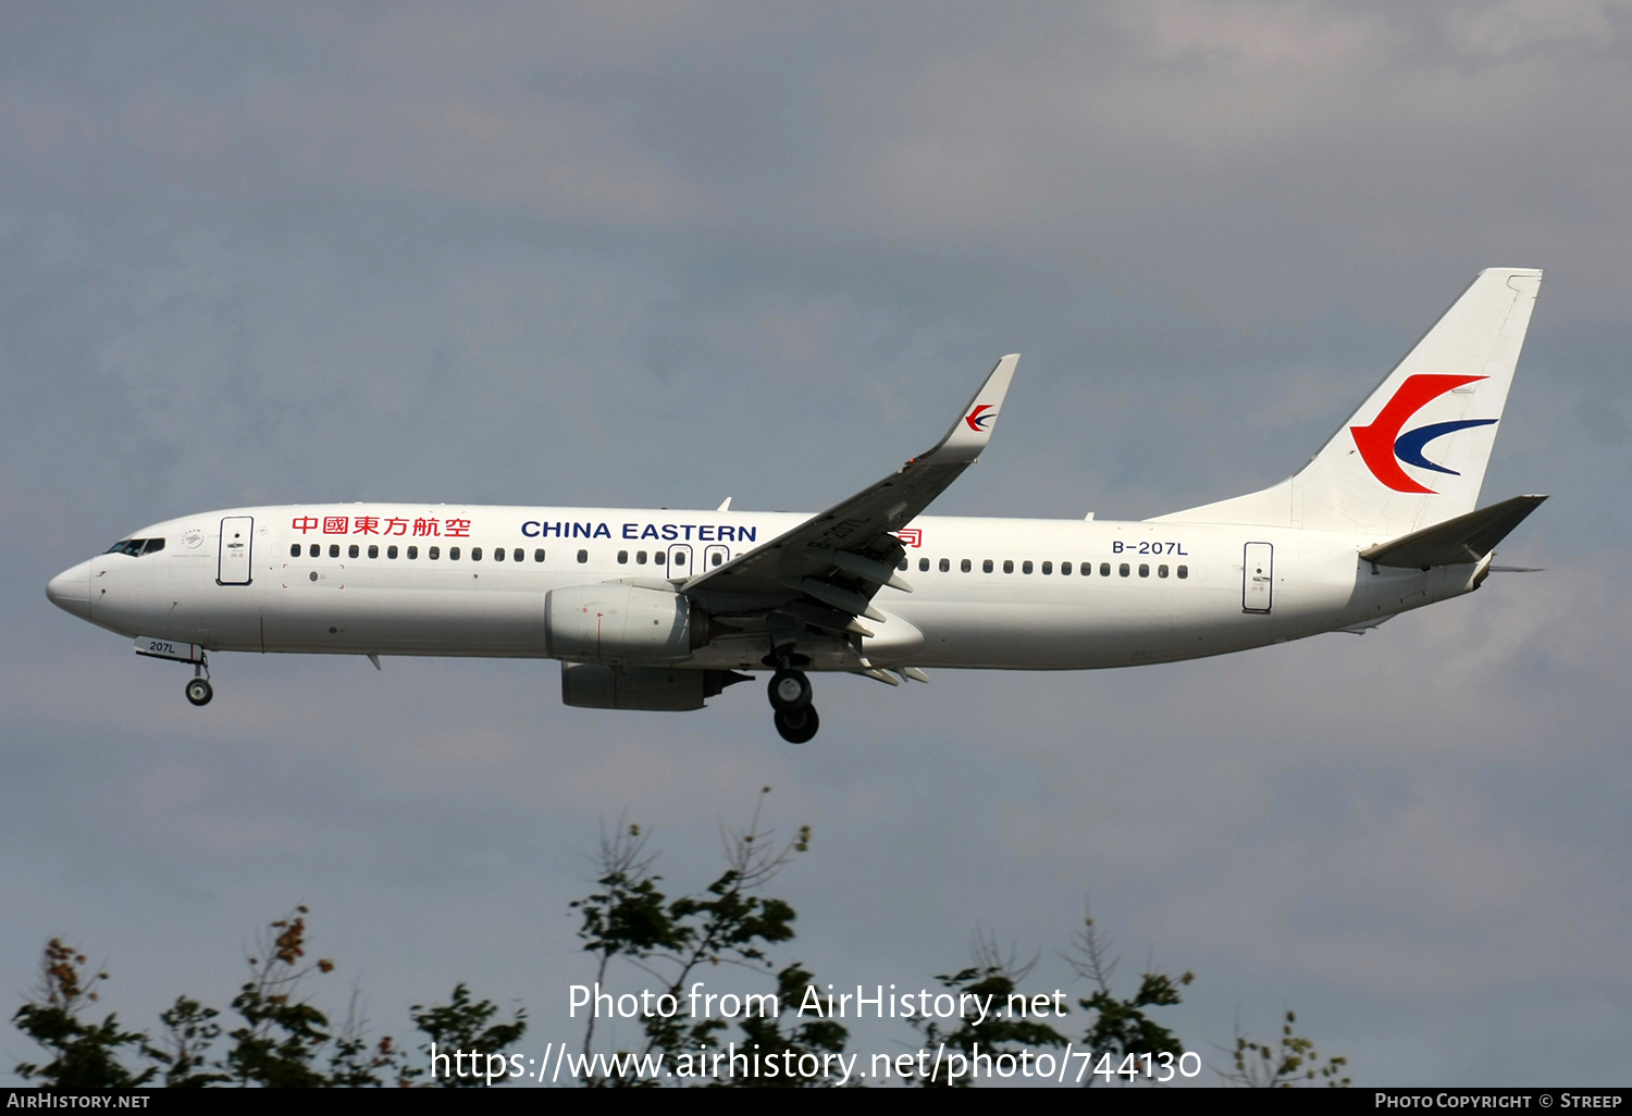
M 1213 1064 L 1291 1007 L 1363 1083 L 1632 1078 L 1627 3 L 7 3 L 0 168 L 0 1015 L 52 935 L 127 1021 L 224 1007 L 307 902 L 326 1003 L 468 981 L 542 1049 L 599 826 L 700 886 L 769 785 L 824 982 L 979 927 L 1080 990 L 1092 896 Z M 818 679 L 792 747 L 550 662 L 224 654 L 194 710 L 44 597 L 250 503 L 821 507 L 1010 351 L 934 511 L 1155 516 L 1296 470 L 1487 266 L 1547 272 L 1483 491 L 1552 494 L 1547 571 L 1363 638 Z

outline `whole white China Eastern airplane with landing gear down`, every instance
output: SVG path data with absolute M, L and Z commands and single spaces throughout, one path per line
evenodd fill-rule
M 214 653 L 558 659 L 566 705 L 700 710 L 769 672 L 1172 662 L 1363 633 L 1472 592 L 1546 496 L 1477 507 L 1541 271 L 1482 271 L 1288 480 L 1133 522 L 925 516 L 992 437 L 1018 356 L 947 436 L 819 514 L 294 504 L 183 516 L 51 579 L 60 609 L 193 666 Z M 1508 568 L 1516 569 L 1516 568 Z

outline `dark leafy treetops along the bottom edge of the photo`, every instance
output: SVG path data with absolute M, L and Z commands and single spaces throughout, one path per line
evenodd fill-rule
M 806 1018 L 801 1012 L 809 997 L 821 1000 L 823 985 L 816 976 L 796 958 L 778 956 L 795 940 L 796 914 L 787 901 L 767 896 L 764 889 L 793 860 L 809 852 L 811 830 L 801 826 L 796 837 L 778 842 L 762 826 L 769 793 L 769 786 L 761 791 L 746 827 L 721 826 L 725 865 L 702 891 L 669 894 L 664 878 L 654 871 L 650 834 L 620 821 L 601 835 L 591 894 L 570 904 L 579 915 L 581 948 L 594 959 L 597 989 L 615 976 L 614 966 L 627 966 L 656 982 L 659 1002 L 661 997 L 672 997 L 679 1003 L 702 971 L 734 966 L 767 989 L 765 995 L 744 997 L 757 999 L 762 1012 L 744 1010 L 731 1018 L 707 1012 L 702 1016 L 679 1010 L 667 1015 L 641 1012 L 633 1051 L 599 1049 L 597 1012 L 591 1013 L 578 1064 L 594 1069 L 574 1074 L 571 1080 L 599 1087 L 836 1083 L 823 1075 L 826 1070 L 816 1075 L 785 1074 L 772 1080 L 734 1074 L 687 1077 L 679 1072 L 659 1080 L 656 1074 L 628 1072 L 636 1061 L 650 1065 L 656 1057 L 663 1059 L 661 1065 L 700 1062 L 698 1051 L 720 1051 L 726 1044 L 752 1049 L 761 1059 L 783 1059 L 787 1065 L 803 1065 L 806 1059 L 823 1067 L 832 1057 L 839 1057 L 840 1065 L 844 1057 L 855 1061 L 855 1052 L 849 1051 L 850 1031 L 840 1021 L 819 1013 Z M 323 1012 L 308 990 L 330 977 L 336 966 L 328 958 L 308 956 L 308 914 L 305 906 L 297 906 L 263 928 L 245 958 L 248 977 L 227 1013 L 180 995 L 160 1012 L 155 1034 L 126 1030 L 114 1013 L 101 1021 L 88 1018 L 108 972 L 93 969 L 86 956 L 62 938 L 52 938 L 41 956 L 38 985 L 11 1020 L 46 1057 L 16 1064 L 16 1075 L 54 1088 L 158 1083 L 170 1088 L 472 1087 L 491 1083 L 477 1072 L 475 1052 L 504 1056 L 527 1034 L 524 1008 L 516 1007 L 508 1018 L 501 1016 L 494 1002 L 477 1000 L 463 982 L 454 985 L 446 1003 L 415 1003 L 410 1008 L 419 1036 L 413 1049 L 390 1034 L 370 1038 L 356 989 L 343 1015 Z M 1038 956 L 1022 959 L 1015 946 L 1004 951 L 994 933 L 979 928 L 969 953 L 971 964 L 935 977 L 953 994 L 958 1015 L 914 1016 L 909 1023 L 916 1031 L 912 1046 L 961 1056 L 966 1064 L 973 1064 L 976 1054 L 996 1059 L 1030 1051 L 1028 1057 L 1038 1057 L 1043 1051 L 1066 1049 L 1079 1051 L 1077 1057 L 1080 1051 L 1093 1051 L 1095 1059 L 1105 1056 L 1111 1064 L 1142 1056 L 1196 1057 L 1185 1054 L 1178 1036 L 1160 1021 L 1164 1008 L 1180 1003 L 1182 990 L 1195 976 L 1183 972 L 1175 977 L 1147 964 L 1133 994 L 1120 995 L 1113 984 L 1118 958 L 1111 956 L 1111 943 L 1092 915 L 1084 917 L 1082 928 L 1061 954 L 1089 985 L 1074 1008 L 1064 1003 L 1062 994 L 1056 994 L 1049 1013 L 987 1010 L 992 1005 L 1007 1008 L 1012 997 L 1023 1000 L 1022 984 Z M 775 1012 L 765 1010 L 772 987 Z M 979 1007 L 982 1003 L 986 1007 Z M 1080 1021 L 1067 1026 L 1067 1013 L 1080 1013 Z M 1237 1028 L 1234 1049 L 1229 1051 L 1232 1067 L 1217 1070 L 1217 1075 L 1227 1083 L 1253 1087 L 1348 1085 L 1346 1059 L 1322 1059 L 1315 1044 L 1296 1033 L 1294 1023 L 1296 1016 L 1288 1012 L 1273 1044 L 1257 1043 Z M 437 1072 L 439 1064 L 449 1065 L 447 1057 L 454 1051 L 470 1054 L 468 1074 L 462 1065 L 457 1072 Z M 491 1057 L 486 1064 L 493 1064 Z M 922 1087 L 969 1085 L 969 1075 L 948 1080 L 953 1077 L 951 1061 L 945 1064 L 945 1074 L 899 1077 Z M 1098 1070 L 1087 1075 L 1084 1083 L 1095 1083 L 1097 1075 Z M 845 1077 L 850 1077 L 849 1070 Z M 1106 1074 L 1106 1080 L 1111 1078 Z M 850 1083 L 855 1080 L 852 1077 Z

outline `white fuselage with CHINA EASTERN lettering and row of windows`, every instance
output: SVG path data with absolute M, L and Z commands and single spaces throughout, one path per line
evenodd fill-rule
M 126 636 L 211 651 L 553 658 L 552 589 L 677 584 L 806 519 L 243 507 L 155 524 L 137 537 L 163 538 L 162 550 L 93 558 L 59 574 L 51 596 Z M 1377 537 L 1284 527 L 920 516 L 899 534 L 907 543 L 901 578 L 912 592 L 878 592 L 873 604 L 886 618 L 865 622 L 873 635 L 860 651 L 837 636 L 801 636 L 809 669 L 1046 671 L 1191 659 L 1366 627 L 1469 592 L 1483 578 L 1483 565 L 1472 563 L 1374 568 L 1358 551 Z M 689 659 L 667 664 L 762 669 L 765 651 L 762 630 L 716 625 Z

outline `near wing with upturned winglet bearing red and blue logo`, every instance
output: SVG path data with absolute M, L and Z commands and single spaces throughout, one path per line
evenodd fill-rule
M 855 618 L 883 620 L 870 604 L 878 587 L 912 592 L 896 574 L 906 550 L 891 532 L 912 522 L 981 455 L 1018 362 L 1018 354 L 997 362 L 935 449 L 793 530 L 697 574 L 681 592 L 715 615 L 782 612 L 829 631 L 871 635 Z

